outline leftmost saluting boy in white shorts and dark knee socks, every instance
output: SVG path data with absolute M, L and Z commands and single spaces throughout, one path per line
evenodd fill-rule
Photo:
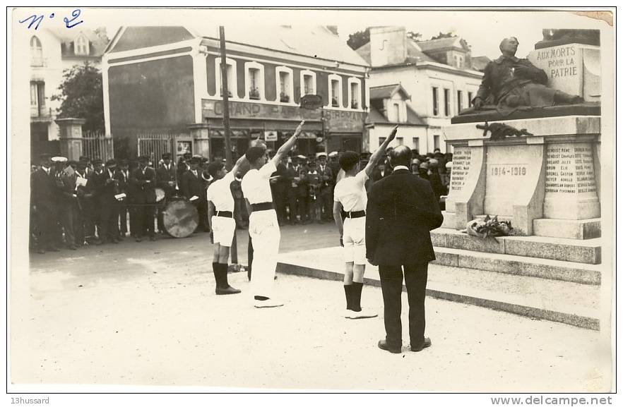
M 216 280 L 217 296 L 240 292 L 227 282 L 227 266 L 229 265 L 234 233 L 236 233 L 234 196 L 232 195 L 231 184 L 242 162 L 244 162 L 244 156 L 238 159 L 230 172 L 227 172 L 223 162 L 211 162 L 208 165 L 208 173 L 216 180 L 208 187 L 206 198 L 208 198 L 210 238 L 214 244 L 212 269 Z

